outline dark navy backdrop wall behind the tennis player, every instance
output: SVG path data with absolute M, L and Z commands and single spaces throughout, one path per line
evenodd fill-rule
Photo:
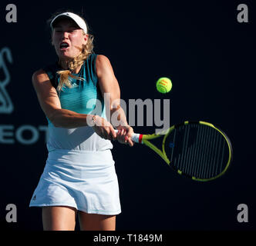
M 16 5 L 17 23 L 5 21 L 5 6 Z M 237 22 L 237 5 L 247 4 L 249 22 Z M 170 99 L 171 125 L 204 120 L 231 139 L 234 161 L 224 177 L 200 183 L 180 177 L 144 146 L 114 143 L 122 213 L 117 230 L 255 230 L 254 68 L 256 6 L 249 1 L 44 1 L 1 2 L 0 50 L 11 81 L 5 89 L 12 114 L 0 125 L 47 125 L 32 88 L 32 73 L 56 60 L 46 20 L 59 9 L 83 12 L 95 36 L 96 54 L 106 55 L 120 82 L 121 98 Z M 157 78 L 173 89 L 157 92 Z M 0 69 L 0 80 L 5 77 Z M 146 121 L 145 121 L 146 122 Z M 150 133 L 152 127 L 134 126 Z M 25 134 L 25 133 L 24 133 Z M 30 138 L 24 135 L 24 138 Z M 40 208 L 29 208 L 45 166 L 45 135 L 33 145 L 0 144 L 0 218 L 6 230 L 42 230 Z M 237 222 L 237 205 L 248 205 L 248 223 Z M 17 222 L 5 221 L 16 204 Z

